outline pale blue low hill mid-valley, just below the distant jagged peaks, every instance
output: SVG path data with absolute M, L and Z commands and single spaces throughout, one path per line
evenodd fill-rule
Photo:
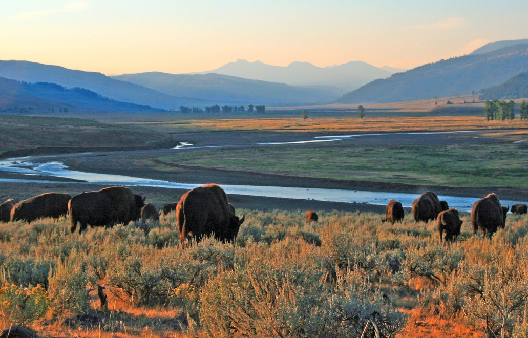
M 174 96 L 203 98 L 229 104 L 292 105 L 333 101 L 342 90 L 329 86 L 293 87 L 220 74 L 147 72 L 112 77 Z

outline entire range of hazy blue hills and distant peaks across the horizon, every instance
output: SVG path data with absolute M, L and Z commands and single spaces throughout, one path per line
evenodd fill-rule
M 398 69 L 376 68 L 361 61 L 321 68 L 307 62 L 281 67 L 237 60 L 213 70 L 214 73 L 146 72 L 108 77 L 29 61 L 0 61 L 0 77 L 4 78 L 0 79 L 0 107 L 24 100 L 33 102 L 35 107 L 55 105 L 91 111 L 216 104 L 369 104 L 464 95 L 483 88 L 496 89 L 512 79 L 506 91 L 493 94 L 501 97 L 492 97 L 507 99 L 513 95 L 513 87 L 523 86 L 523 78 L 515 76 L 528 71 L 528 40 L 493 42 L 469 55 L 395 71 Z M 371 78 L 377 79 L 370 81 Z M 360 88 L 345 93 L 347 86 L 354 88 L 361 83 Z

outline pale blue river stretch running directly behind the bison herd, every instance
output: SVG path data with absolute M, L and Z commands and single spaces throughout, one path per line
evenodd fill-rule
M 80 171 L 69 170 L 61 162 L 47 162 L 47 163 L 31 163 L 22 162 L 22 158 L 15 161 L 0 162 L 0 170 L 7 172 L 15 172 L 25 175 L 42 175 L 53 177 L 64 177 L 67 179 L 82 180 L 87 183 L 103 184 L 103 185 L 129 185 L 129 186 L 155 186 L 173 189 L 193 189 L 196 186 L 205 184 L 207 182 L 197 183 L 177 183 L 162 180 L 142 179 L 140 177 L 111 175 L 111 174 L 97 174 Z M 0 179 L 0 182 L 50 182 L 50 181 L 33 181 L 33 180 L 10 180 Z M 58 183 L 54 181 L 54 183 Z M 60 182 L 72 183 L 72 182 Z M 278 197 L 288 199 L 301 200 L 316 200 L 328 202 L 345 202 L 345 203 L 370 203 L 378 205 L 386 205 L 391 199 L 398 200 L 405 207 L 410 207 L 412 201 L 416 199 L 418 194 L 408 193 L 394 193 L 394 192 L 372 192 L 359 190 L 340 190 L 340 189 L 317 189 L 317 188 L 296 188 L 296 187 L 280 187 L 280 186 L 252 186 L 252 185 L 227 185 L 222 184 L 223 189 L 228 194 L 250 195 L 250 196 L 265 196 Z M 470 211 L 473 203 L 483 196 L 475 196 L 474 198 L 464 198 L 456 196 L 439 195 L 440 200 L 445 200 L 449 206 L 462 211 Z M 512 205 L 521 203 L 519 201 L 501 201 L 503 205 Z M 523 202 L 526 203 L 526 202 Z

